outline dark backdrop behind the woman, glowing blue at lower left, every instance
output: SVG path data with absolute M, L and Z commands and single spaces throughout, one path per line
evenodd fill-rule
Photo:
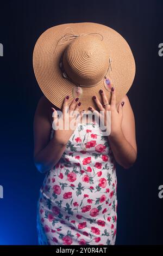
M 96 22 L 128 41 L 136 76 L 128 92 L 135 114 L 137 160 L 117 165 L 117 245 L 161 244 L 162 1 L 3 1 L 0 15 L 1 171 L 0 245 L 36 245 L 36 203 L 44 175 L 33 163 L 33 118 L 42 93 L 33 48 L 39 35 L 61 23 Z

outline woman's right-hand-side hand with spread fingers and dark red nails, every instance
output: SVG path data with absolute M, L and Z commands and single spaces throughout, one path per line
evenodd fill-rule
M 116 92 L 115 88 L 112 87 L 113 90 L 111 90 L 111 103 L 109 104 L 108 99 L 106 97 L 106 94 L 103 90 L 100 90 L 99 92 L 101 93 L 102 96 L 102 101 L 103 104 L 99 101 L 97 96 L 93 96 L 93 100 L 95 101 L 96 105 L 98 106 L 99 111 L 103 111 L 102 114 L 95 110 L 92 106 L 89 107 L 89 110 L 92 112 L 95 111 L 95 115 L 97 115 L 100 120 L 104 120 L 104 126 L 106 127 L 106 130 L 110 130 L 109 136 L 116 136 L 118 133 L 122 131 L 122 118 L 123 118 L 123 105 L 124 102 L 120 103 L 118 105 L 118 108 L 116 109 Z M 107 111 L 111 111 L 111 124 L 107 123 L 107 118 L 106 118 L 106 113 Z M 104 115 L 104 116 L 103 116 Z

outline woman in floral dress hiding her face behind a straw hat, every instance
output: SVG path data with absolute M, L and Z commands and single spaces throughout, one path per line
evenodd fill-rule
M 62 37 L 70 28 L 73 34 Z M 71 23 L 47 29 L 33 60 L 44 94 L 34 117 L 34 162 L 45 174 L 37 204 L 39 244 L 114 245 L 115 164 L 128 169 L 137 155 L 126 95 L 135 75 L 130 47 L 109 27 Z

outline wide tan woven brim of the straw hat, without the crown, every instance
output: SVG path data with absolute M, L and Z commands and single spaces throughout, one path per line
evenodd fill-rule
M 59 67 L 62 52 L 72 41 L 65 40 L 64 44 L 57 46 L 54 51 L 58 40 L 64 37 L 65 33 L 74 33 L 76 35 L 99 33 L 103 36 L 112 60 L 111 76 L 116 90 L 116 103 L 119 103 L 133 84 L 135 77 L 134 56 L 122 35 L 108 26 L 92 22 L 66 23 L 48 28 L 36 41 L 33 52 L 34 73 L 37 83 L 46 98 L 60 109 L 67 95 L 70 96 L 69 104 L 74 99 L 72 92 L 75 85 L 63 78 Z M 102 81 L 93 87 L 83 87 L 80 109 L 87 110 L 89 106 L 98 109 L 92 96 L 96 95 L 102 102 L 99 94 L 100 89 L 106 93 L 106 97 L 110 101 L 111 92 L 106 90 Z

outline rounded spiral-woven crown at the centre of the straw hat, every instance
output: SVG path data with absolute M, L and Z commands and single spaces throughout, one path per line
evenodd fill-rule
M 108 70 L 108 51 L 97 36 L 80 35 L 66 47 L 63 66 L 74 83 L 93 86 L 103 79 Z

